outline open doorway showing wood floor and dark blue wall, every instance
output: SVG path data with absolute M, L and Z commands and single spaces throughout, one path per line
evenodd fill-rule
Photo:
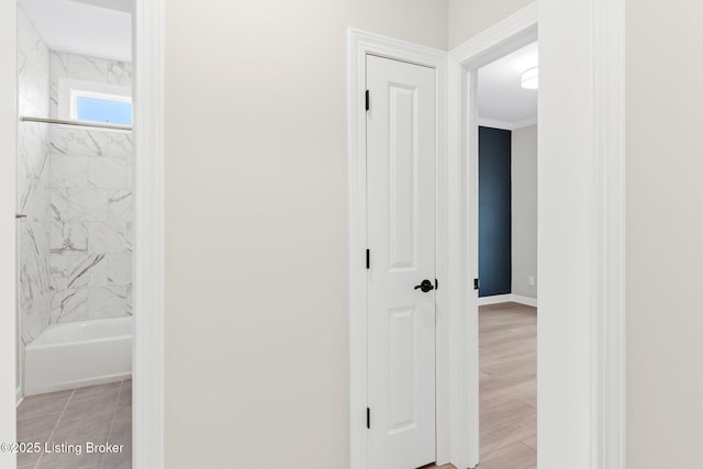
M 537 43 L 478 70 L 480 464 L 537 464 Z

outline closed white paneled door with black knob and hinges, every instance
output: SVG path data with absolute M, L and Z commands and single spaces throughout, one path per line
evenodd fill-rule
M 435 460 L 435 70 L 367 56 L 369 468 Z

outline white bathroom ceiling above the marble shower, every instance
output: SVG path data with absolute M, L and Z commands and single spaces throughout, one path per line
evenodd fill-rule
M 132 62 L 132 0 L 18 0 L 48 48 Z

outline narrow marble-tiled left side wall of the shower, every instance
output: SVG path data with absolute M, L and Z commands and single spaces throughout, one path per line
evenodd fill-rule
M 49 49 L 32 22 L 18 9 L 18 111 L 46 116 L 49 102 Z M 19 312 L 23 343 L 49 324 L 51 289 L 51 171 L 49 126 L 18 124 Z M 20 369 L 20 368 L 18 368 Z

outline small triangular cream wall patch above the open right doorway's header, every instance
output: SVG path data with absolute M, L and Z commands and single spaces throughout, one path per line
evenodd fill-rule
M 535 0 L 449 0 L 449 48 L 470 40 Z

